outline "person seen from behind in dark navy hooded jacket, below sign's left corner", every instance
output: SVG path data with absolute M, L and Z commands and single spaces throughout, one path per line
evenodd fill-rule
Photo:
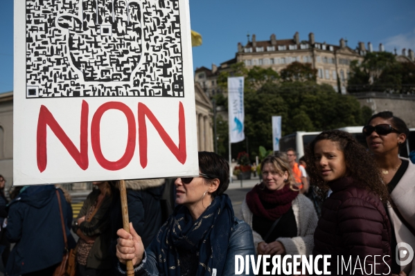
M 16 245 L 10 252 L 7 275 L 52 275 L 62 261 L 64 237 L 56 190 L 54 185 L 25 186 L 10 203 L 6 237 Z M 58 193 L 71 249 L 75 247 L 70 232 L 72 208 L 62 190 Z

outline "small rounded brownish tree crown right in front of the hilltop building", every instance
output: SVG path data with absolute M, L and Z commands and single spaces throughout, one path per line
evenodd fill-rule
M 281 70 L 283 82 L 308 82 L 317 80 L 317 69 L 313 69 L 310 63 L 292 62 Z

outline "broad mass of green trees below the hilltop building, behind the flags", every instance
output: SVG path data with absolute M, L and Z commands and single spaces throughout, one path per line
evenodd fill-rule
M 272 116 L 282 116 L 282 135 L 294 131 L 323 131 L 340 127 L 364 125 L 371 116 L 371 109 L 360 108 L 360 103 L 351 95 L 336 93 L 328 84 L 315 81 L 277 81 L 270 71 L 251 69 L 245 80 L 251 89 L 245 89 L 245 136 L 248 142 L 232 144 L 232 156 L 247 151 L 254 161 L 263 146 L 272 149 Z M 265 76 L 261 76 L 261 72 Z M 259 89 L 253 87 L 260 86 Z M 228 156 L 228 125 L 218 118 L 218 153 Z M 226 123 L 226 124 L 225 124 Z M 225 144 L 222 144 L 225 143 Z M 222 144 L 222 145 L 221 145 Z

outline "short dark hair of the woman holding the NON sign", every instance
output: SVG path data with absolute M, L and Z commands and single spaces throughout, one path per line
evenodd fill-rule
M 199 151 L 199 169 L 202 174 L 207 174 L 219 179 L 219 187 L 212 193 L 212 197 L 220 196 L 229 186 L 229 163 L 222 156 L 209 151 Z M 209 183 L 209 179 L 205 178 Z

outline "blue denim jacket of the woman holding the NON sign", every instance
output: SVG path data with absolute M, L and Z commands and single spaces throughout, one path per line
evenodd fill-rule
M 214 254 L 214 253 L 213 253 Z M 241 221 L 234 217 L 234 227 L 229 238 L 228 252 L 226 264 L 222 275 L 217 276 L 233 276 L 235 275 L 235 256 L 242 255 L 245 260 L 246 255 L 255 255 L 254 239 L 252 237 L 252 230 L 245 221 Z M 238 268 L 239 269 L 239 268 Z M 118 274 L 126 275 L 126 268 L 123 264 L 118 262 Z M 251 264 L 249 264 L 249 273 L 252 273 Z M 245 274 L 245 266 L 243 275 Z M 157 270 L 157 259 L 155 252 L 152 250 L 152 245 L 145 250 L 143 261 L 141 264 L 134 268 L 135 276 L 156 276 L 159 275 Z

